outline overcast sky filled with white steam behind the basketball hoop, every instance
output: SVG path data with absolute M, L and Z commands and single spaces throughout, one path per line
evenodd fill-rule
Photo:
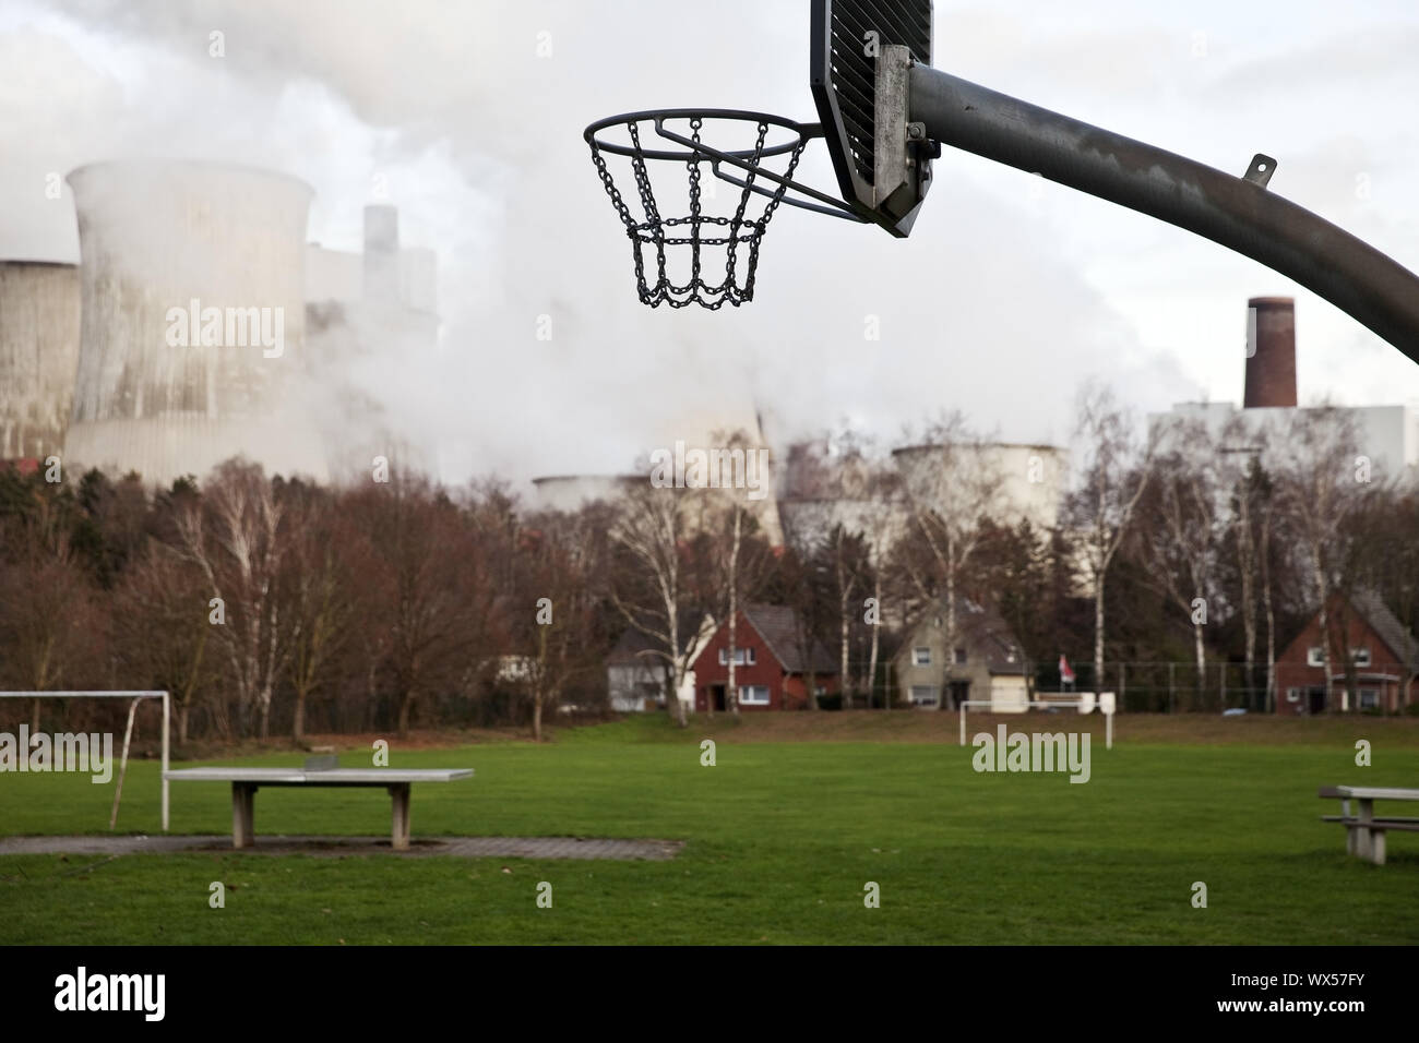
M 1273 192 L 1419 268 L 1419 4 L 937 0 L 935 20 L 938 68 L 1236 175 L 1266 152 Z M 674 105 L 816 119 L 807 4 L 7 0 L 0 257 L 78 260 L 44 183 L 87 162 L 295 175 L 309 238 L 342 250 L 380 179 L 403 243 L 438 253 L 444 328 L 377 390 L 454 482 L 624 470 L 753 409 L 776 440 L 959 407 L 1064 441 L 1088 377 L 1142 410 L 1240 402 L 1256 295 L 1296 297 L 1303 400 L 1419 402 L 1419 368 L 1263 265 L 949 150 L 911 238 L 780 209 L 753 302 L 644 308 L 582 131 Z M 823 152 L 800 173 L 834 184 Z

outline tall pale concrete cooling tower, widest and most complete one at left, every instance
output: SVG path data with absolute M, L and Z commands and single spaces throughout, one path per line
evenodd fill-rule
M 302 407 L 311 189 L 217 163 L 72 172 L 82 333 L 71 465 L 166 485 L 233 456 L 324 481 Z

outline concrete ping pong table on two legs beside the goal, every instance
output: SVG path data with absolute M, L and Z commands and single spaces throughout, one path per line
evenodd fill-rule
M 453 782 L 473 778 L 471 768 L 183 768 L 163 772 L 173 782 L 231 783 L 231 846 L 255 843 L 253 803 L 261 786 L 375 786 L 393 798 L 392 841 L 409 850 L 409 788 L 416 782 Z

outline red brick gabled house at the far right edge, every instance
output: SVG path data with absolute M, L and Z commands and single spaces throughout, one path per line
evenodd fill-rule
M 1277 714 L 1304 717 L 1357 710 L 1396 714 L 1415 698 L 1419 646 L 1376 595 L 1332 596 L 1327 623 L 1330 688 L 1317 612 L 1276 660 Z

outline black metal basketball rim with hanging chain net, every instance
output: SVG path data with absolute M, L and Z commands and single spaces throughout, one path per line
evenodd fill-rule
M 719 149 L 707 145 L 702 140 L 707 122 L 715 125 L 717 139 L 732 140 L 741 148 Z M 646 148 L 641 123 L 653 123 L 657 138 L 680 148 L 660 148 L 656 139 L 651 139 L 651 145 L 657 148 Z M 667 123 L 683 125 L 685 133 Z M 622 131 L 624 140 L 612 138 L 613 132 Z M 742 140 L 734 140 L 734 133 Z M 631 243 L 641 304 L 651 308 L 661 304 L 671 308 L 698 304 L 714 311 L 725 302 L 738 308 L 745 301 L 752 301 L 759 243 L 779 203 L 864 221 L 843 200 L 793 180 L 803 146 L 810 138 L 822 136 L 820 123 L 797 123 L 741 109 L 648 109 L 609 116 L 587 126 L 585 138 L 592 148 L 592 160 Z M 640 216 L 631 213 L 630 204 L 616 187 L 607 156 L 630 160 Z M 667 182 L 663 180 L 661 199 L 657 200 L 647 160 L 683 163 L 687 175 L 683 196 L 667 200 Z M 769 169 L 765 160 L 778 160 L 780 169 Z M 710 166 L 715 180 L 704 179 L 702 165 Z M 725 173 L 721 170 L 722 165 L 744 170 L 744 177 Z M 715 182 L 732 184 L 736 192 L 731 193 L 729 200 L 719 200 Z M 819 203 L 786 194 L 790 190 Z M 666 217 L 661 213 L 663 206 L 670 207 L 681 199 L 684 216 Z M 761 204 L 761 199 L 766 202 Z M 711 204 L 710 211 L 707 203 Z M 722 268 L 718 264 L 721 257 Z M 715 281 L 719 271 L 724 278 Z

